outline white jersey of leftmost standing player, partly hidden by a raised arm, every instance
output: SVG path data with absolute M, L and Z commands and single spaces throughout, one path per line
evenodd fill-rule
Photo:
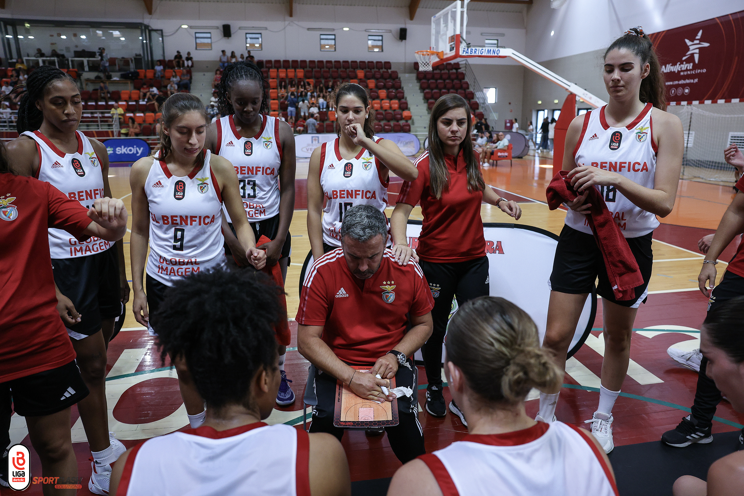
M 36 150 L 39 152 L 36 178 L 39 181 L 47 181 L 69 199 L 77 200 L 86 208 L 91 207 L 95 199 L 106 196 L 103 194 L 103 173 L 100 171 L 98 155 L 82 132 L 75 132 L 77 152 L 74 153 L 60 151 L 39 131 L 26 131 L 22 135 L 36 141 Z M 106 251 L 111 245 L 111 242 L 100 238 L 78 241 L 62 229 L 49 230 L 49 253 L 52 258 L 86 257 Z

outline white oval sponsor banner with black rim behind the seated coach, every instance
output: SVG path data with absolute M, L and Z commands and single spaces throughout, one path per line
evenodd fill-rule
M 421 233 L 420 221 L 408 221 L 406 236 L 408 245 L 418 246 Z M 486 256 L 488 257 L 489 288 L 491 296 L 499 296 L 514 303 L 527 312 L 537 325 L 540 343 L 545 338 L 548 322 L 548 302 L 551 289 L 548 281 L 553 271 L 553 259 L 558 245 L 558 236 L 540 228 L 515 224 L 484 224 Z M 312 254 L 305 260 L 300 277 L 300 289 L 307 268 L 312 264 Z M 452 313 L 458 308 L 452 300 Z M 591 294 L 584 304 L 581 318 L 571 340 L 568 356 L 583 345 L 586 335 L 594 324 L 597 297 Z M 444 350 L 442 350 L 444 352 Z M 422 360 L 421 352 L 415 358 Z

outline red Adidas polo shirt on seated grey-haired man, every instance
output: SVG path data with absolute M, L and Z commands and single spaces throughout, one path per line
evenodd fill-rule
M 405 314 L 420 317 L 434 308 L 419 265 L 411 260 L 401 266 L 391 257 L 385 250 L 379 269 L 363 281 L 351 273 L 341 248 L 316 260 L 307 272 L 295 320 L 324 326 L 323 341 L 348 364 L 373 364 L 403 339 Z

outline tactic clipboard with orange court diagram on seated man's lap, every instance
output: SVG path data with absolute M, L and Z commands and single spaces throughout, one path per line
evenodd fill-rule
M 366 373 L 369 366 L 354 367 L 359 372 Z M 390 388 L 395 387 L 395 378 L 390 379 Z M 336 405 L 333 410 L 333 425 L 345 429 L 380 429 L 398 425 L 398 402 L 382 402 L 382 405 L 369 399 L 356 396 L 350 388 L 341 381 L 336 381 Z

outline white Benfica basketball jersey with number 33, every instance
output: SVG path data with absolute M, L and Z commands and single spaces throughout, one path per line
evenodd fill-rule
M 261 129 L 253 138 L 243 138 L 237 132 L 232 115 L 217 120 L 217 155 L 235 167 L 249 222 L 271 219 L 279 213 L 279 119 L 260 117 Z M 232 222 L 227 209 L 225 218 Z

